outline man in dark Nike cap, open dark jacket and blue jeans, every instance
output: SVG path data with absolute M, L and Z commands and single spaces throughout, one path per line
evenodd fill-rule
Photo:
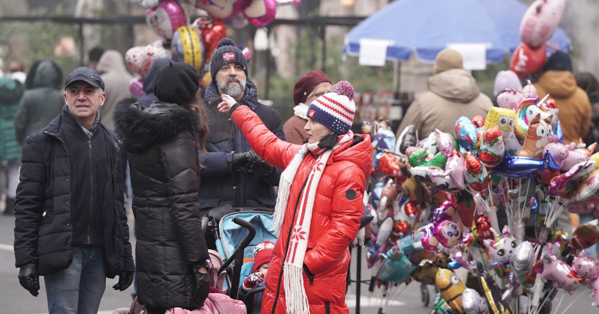
M 65 106 L 25 139 L 14 204 L 19 282 L 50 313 L 97 313 L 106 278 L 123 291 L 135 271 L 123 206 L 122 142 L 100 123 L 104 81 L 93 69 L 66 77 Z

